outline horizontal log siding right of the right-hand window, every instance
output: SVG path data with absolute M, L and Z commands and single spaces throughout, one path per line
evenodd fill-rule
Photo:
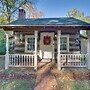
M 76 41 L 80 39 L 79 30 L 62 30 L 61 34 L 69 35 L 69 53 L 80 53 L 80 42 Z

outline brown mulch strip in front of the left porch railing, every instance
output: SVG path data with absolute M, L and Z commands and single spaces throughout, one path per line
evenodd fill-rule
M 2 70 L 0 71 L 0 82 L 4 80 L 33 80 L 36 79 L 36 75 L 32 74 L 31 71 L 29 70 L 15 70 L 15 69 L 10 69 L 10 70 Z

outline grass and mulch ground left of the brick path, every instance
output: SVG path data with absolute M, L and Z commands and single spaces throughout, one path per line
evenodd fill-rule
M 26 69 L 4 69 L 0 59 L 0 90 L 34 90 L 36 76 Z

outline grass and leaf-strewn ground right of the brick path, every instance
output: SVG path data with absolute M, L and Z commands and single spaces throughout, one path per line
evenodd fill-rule
M 87 69 L 63 69 L 51 72 L 57 81 L 57 90 L 90 90 L 90 71 Z

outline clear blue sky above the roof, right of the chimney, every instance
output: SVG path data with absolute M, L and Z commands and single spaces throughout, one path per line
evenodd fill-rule
M 67 12 L 74 8 L 90 16 L 90 0 L 38 0 L 36 7 L 46 18 L 66 17 Z

